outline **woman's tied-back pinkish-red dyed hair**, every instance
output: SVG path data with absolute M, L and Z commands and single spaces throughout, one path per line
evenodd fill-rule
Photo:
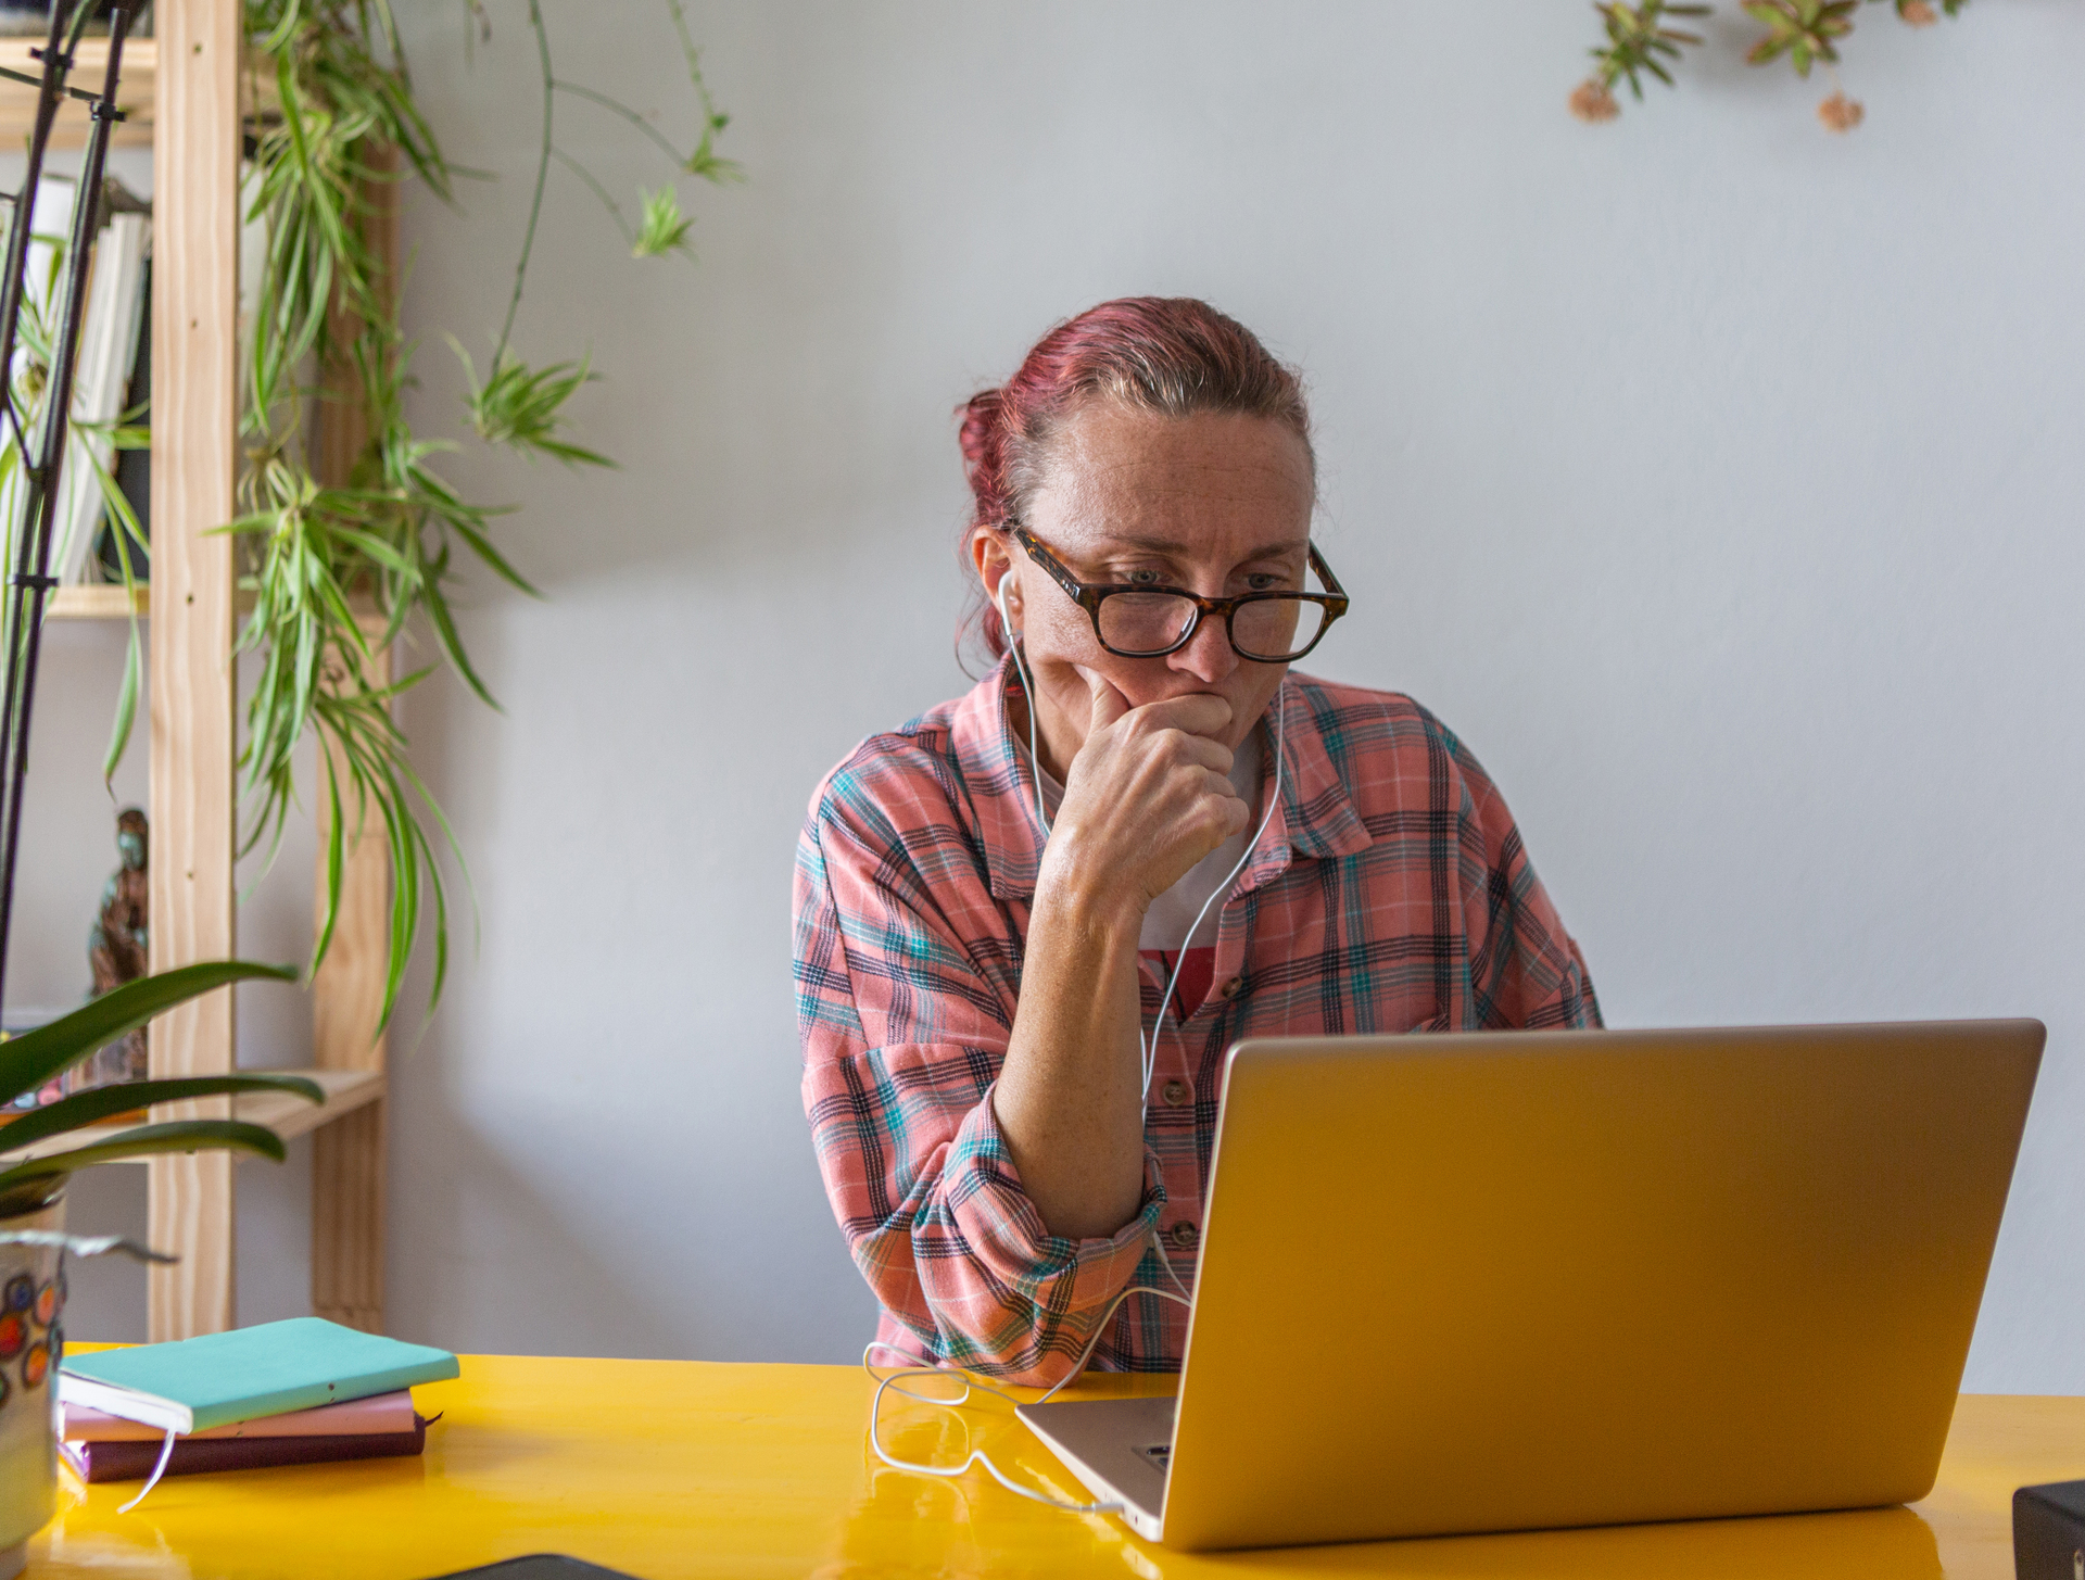
M 1030 346 L 1011 379 L 957 406 L 972 494 L 965 569 L 972 534 L 1022 519 L 1065 417 L 1097 398 L 1159 417 L 1266 417 L 1303 440 L 1305 452 L 1311 448 L 1303 379 L 1236 319 L 1193 296 L 1122 296 L 1088 306 Z M 999 611 L 982 588 L 974 588 L 959 646 L 970 632 L 992 659 L 1007 650 Z

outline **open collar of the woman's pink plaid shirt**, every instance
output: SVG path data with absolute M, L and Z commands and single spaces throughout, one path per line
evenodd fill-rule
M 1020 677 L 1007 657 L 955 705 L 949 742 L 978 819 L 992 898 L 1032 900 L 1042 863 L 1042 830 L 1036 823 L 1028 742 L 1015 738 L 1007 711 L 1007 690 L 1013 686 L 1020 686 Z M 1322 702 L 1318 684 L 1293 671 L 1276 692 L 1276 707 L 1282 709 L 1282 805 L 1253 846 L 1238 892 L 1272 882 L 1297 859 L 1351 857 L 1372 844 L 1332 761 L 1320 717 Z M 1264 796 L 1268 775 L 1274 773 L 1272 709 L 1259 727 L 1266 732 L 1259 775 Z

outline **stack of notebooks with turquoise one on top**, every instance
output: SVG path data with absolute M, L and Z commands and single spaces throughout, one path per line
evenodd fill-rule
M 411 1386 L 452 1376 L 448 1351 L 323 1317 L 67 1355 L 60 1442 L 88 1482 L 417 1455 Z

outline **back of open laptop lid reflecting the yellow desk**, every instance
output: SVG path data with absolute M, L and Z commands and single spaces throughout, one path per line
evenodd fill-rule
M 1238 1044 L 1166 1542 L 1922 1497 L 2041 1042 L 1952 1021 Z

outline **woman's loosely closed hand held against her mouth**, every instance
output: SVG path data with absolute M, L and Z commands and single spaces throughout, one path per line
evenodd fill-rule
M 1228 777 L 1232 750 L 1216 738 L 1230 702 L 1193 692 L 1132 709 L 1107 677 L 1084 667 L 1080 675 L 1093 688 L 1093 715 L 1036 888 L 1088 913 L 1143 921 L 1151 900 L 1251 819 Z

